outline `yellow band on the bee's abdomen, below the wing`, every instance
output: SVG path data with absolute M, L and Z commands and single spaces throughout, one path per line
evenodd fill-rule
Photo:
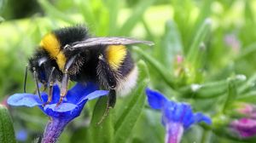
M 118 70 L 119 66 L 121 66 L 125 60 L 127 50 L 124 45 L 109 45 L 106 49 L 106 54 L 109 66 L 111 66 L 113 70 Z

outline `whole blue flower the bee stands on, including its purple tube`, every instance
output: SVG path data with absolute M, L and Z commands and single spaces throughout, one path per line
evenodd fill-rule
M 43 102 L 36 94 L 13 94 L 7 100 L 10 106 L 38 106 L 46 115 L 51 117 L 44 130 L 43 143 L 55 142 L 60 136 L 67 123 L 78 117 L 84 108 L 87 100 L 93 100 L 102 95 L 108 94 L 106 90 L 97 90 L 98 86 L 94 83 L 83 85 L 77 83 L 72 89 L 68 90 L 66 98 L 60 106 L 56 106 L 60 99 L 60 89 L 57 85 L 53 89 L 53 99 L 49 105 L 43 106 Z M 42 93 L 44 102 L 48 95 Z

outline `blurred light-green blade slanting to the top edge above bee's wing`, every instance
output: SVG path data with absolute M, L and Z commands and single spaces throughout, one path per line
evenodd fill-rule
M 139 20 L 142 20 L 142 16 L 146 9 L 154 3 L 154 0 L 140 1 L 137 7 L 133 9 L 131 16 L 125 21 L 125 24 L 120 28 L 119 35 L 129 35 L 134 26 L 137 25 Z

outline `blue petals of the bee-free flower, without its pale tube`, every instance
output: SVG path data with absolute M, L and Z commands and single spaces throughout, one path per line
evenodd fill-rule
M 189 104 L 167 100 L 164 95 L 150 89 L 146 89 L 146 94 L 148 95 L 149 106 L 154 109 L 161 109 L 162 123 L 165 126 L 170 123 L 181 123 L 184 129 L 188 129 L 194 123 L 212 123 L 211 118 L 201 112 L 193 113 Z

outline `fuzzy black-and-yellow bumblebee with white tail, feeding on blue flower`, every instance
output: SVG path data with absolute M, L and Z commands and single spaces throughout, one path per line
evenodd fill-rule
M 38 83 L 43 83 L 49 92 L 45 104 L 49 104 L 54 83 L 61 83 L 58 106 L 67 94 L 69 81 L 94 82 L 109 90 L 107 106 L 113 107 L 116 93 L 127 94 L 137 83 L 137 66 L 125 46 L 135 43 L 153 44 L 127 37 L 90 37 L 84 26 L 49 32 L 42 38 L 28 64 L 38 95 Z M 24 90 L 26 92 L 26 80 Z

